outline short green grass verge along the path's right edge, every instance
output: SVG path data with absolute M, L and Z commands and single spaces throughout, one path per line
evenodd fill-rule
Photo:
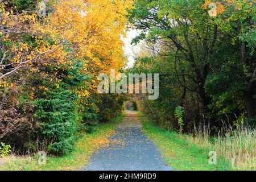
M 175 170 L 226 170 L 229 165 L 217 160 L 217 165 L 209 164 L 209 148 L 187 142 L 187 135 L 164 130 L 147 117 L 140 117 L 144 133 L 159 147 L 166 163 Z

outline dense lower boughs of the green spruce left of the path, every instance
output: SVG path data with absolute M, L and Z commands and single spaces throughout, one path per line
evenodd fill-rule
M 44 98 L 35 101 L 38 106 L 35 119 L 39 122 L 40 138 L 43 139 L 42 143 L 47 143 L 48 151 L 53 154 L 67 154 L 73 150 L 75 142 L 77 95 L 59 84 L 59 88 L 51 85 L 43 94 Z

